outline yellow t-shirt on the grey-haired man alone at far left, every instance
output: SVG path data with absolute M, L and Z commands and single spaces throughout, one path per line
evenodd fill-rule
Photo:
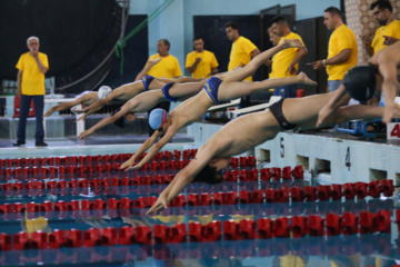
M 39 52 L 39 60 L 49 69 L 49 61 L 46 53 Z M 16 68 L 22 70 L 22 95 L 43 96 L 46 93 L 44 75 L 40 71 L 36 59 L 30 56 L 30 52 L 21 55 Z

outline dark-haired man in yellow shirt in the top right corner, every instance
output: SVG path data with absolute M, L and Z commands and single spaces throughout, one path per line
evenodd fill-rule
M 388 0 L 378 0 L 371 3 L 370 10 L 376 21 L 381 26 L 377 29 L 373 40 L 370 36 L 361 36 L 369 56 L 373 56 L 382 48 L 397 42 L 400 39 L 400 21 L 393 18 L 393 8 Z

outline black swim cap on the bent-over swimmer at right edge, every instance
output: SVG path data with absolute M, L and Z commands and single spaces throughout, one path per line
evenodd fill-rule
M 343 78 L 346 91 L 359 101 L 371 99 L 377 82 L 374 73 L 373 66 L 360 66 L 350 69 Z

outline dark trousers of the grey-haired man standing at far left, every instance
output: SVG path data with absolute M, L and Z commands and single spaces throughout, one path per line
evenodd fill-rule
M 37 122 L 37 131 L 34 135 L 34 139 L 36 141 L 42 141 L 44 139 L 44 128 L 43 128 L 44 96 L 22 95 L 21 105 L 20 105 L 20 118 L 18 121 L 18 130 L 17 130 L 18 141 L 26 141 L 27 118 L 29 115 L 29 108 L 32 99 L 34 105 L 36 122 Z

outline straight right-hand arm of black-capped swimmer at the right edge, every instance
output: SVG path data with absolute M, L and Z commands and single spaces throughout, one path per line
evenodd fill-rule
M 382 121 L 388 123 L 391 122 L 396 109 L 394 98 L 398 86 L 397 65 L 392 58 L 388 58 L 388 55 L 384 55 L 379 61 L 382 61 L 379 63 L 379 72 L 383 77 L 382 92 L 386 99 Z

